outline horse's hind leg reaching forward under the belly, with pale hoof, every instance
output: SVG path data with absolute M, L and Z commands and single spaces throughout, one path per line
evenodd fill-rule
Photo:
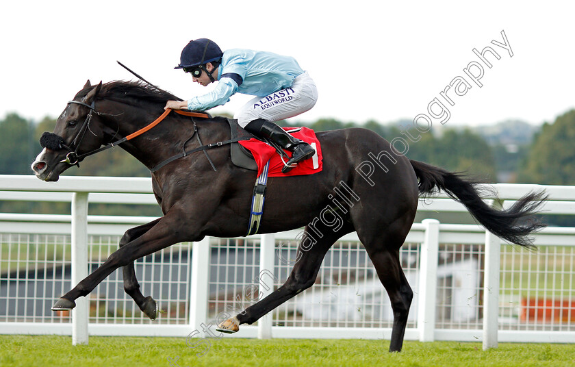
M 309 242 L 305 241 L 306 236 L 303 236 L 303 240 L 296 252 L 296 264 L 292 269 L 290 277 L 288 277 L 288 280 L 285 281 L 283 286 L 266 296 L 266 298 L 255 303 L 255 305 L 247 307 L 234 318 L 229 318 L 220 323 L 220 325 L 218 325 L 218 331 L 234 333 L 238 331 L 241 324 L 253 324 L 253 322 L 256 322 L 261 316 L 272 311 L 272 309 L 313 286 L 325 254 L 331 245 L 333 245 L 338 238 L 352 230 L 349 225 L 344 225 L 342 229 L 334 232 L 333 229 L 329 227 L 322 227 L 319 222 L 314 231 L 310 231 L 309 227 L 305 227 L 305 233 L 310 233 L 311 238 L 314 238 L 317 242 L 305 251 L 302 248 L 302 244 L 305 242 L 305 244 L 309 245 Z M 314 233 L 322 233 L 323 237 L 318 238 Z

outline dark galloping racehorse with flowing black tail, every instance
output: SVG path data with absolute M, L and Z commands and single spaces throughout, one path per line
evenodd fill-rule
M 54 133 L 47 134 L 44 149 L 31 166 L 34 173 L 39 179 L 57 181 L 76 163 L 70 157 L 71 151 L 81 155 L 129 136 L 162 114 L 169 99 L 175 97 L 136 82 L 92 86 L 88 81 L 66 105 Z M 224 118 L 194 121 L 204 143 L 230 138 Z M 162 123 L 120 147 L 153 168 L 181 153 L 193 131 L 189 117 L 170 113 Z M 227 320 L 227 327 L 237 330 L 241 324 L 251 324 L 311 287 L 331 245 L 344 234 L 357 231 L 392 302 L 394 324 L 389 350 L 400 351 L 413 292 L 400 266 L 399 249 L 413 223 L 420 194 L 445 190 L 463 203 L 478 223 L 520 246 L 533 246 L 528 235 L 542 227 L 527 218 L 545 199 L 541 192 L 526 195 L 507 210 L 494 210 L 482 201 L 473 181 L 409 160 L 372 131 L 342 129 L 319 132 L 317 136 L 323 170 L 315 175 L 270 177 L 259 227 L 260 233 L 305 227 L 296 254 L 298 261 L 283 286 Z M 199 142 L 189 140 L 186 149 L 194 147 L 199 147 Z M 229 145 L 209 150 L 209 156 L 217 171 L 200 152 L 153 172 L 153 192 L 164 216 L 126 231 L 119 249 L 64 294 L 53 309 L 72 309 L 75 299 L 89 294 L 122 267 L 125 291 L 149 318 L 155 319 L 157 303 L 140 292 L 134 260 L 204 236 L 244 236 L 256 173 L 233 166 Z

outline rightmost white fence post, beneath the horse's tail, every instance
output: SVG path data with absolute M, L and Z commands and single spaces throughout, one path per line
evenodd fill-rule
M 499 317 L 499 272 L 501 240 L 485 231 L 485 272 L 483 274 L 483 350 L 497 348 Z

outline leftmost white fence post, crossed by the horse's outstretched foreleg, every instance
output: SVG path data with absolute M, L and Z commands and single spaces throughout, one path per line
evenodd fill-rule
M 88 277 L 88 192 L 75 192 L 72 197 L 72 287 Z M 88 344 L 90 299 L 76 299 L 72 309 L 72 345 Z

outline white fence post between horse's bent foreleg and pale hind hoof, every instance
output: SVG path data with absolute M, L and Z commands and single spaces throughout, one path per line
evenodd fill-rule
M 192 244 L 192 271 L 190 281 L 190 328 L 197 330 L 197 336 L 203 338 L 207 321 L 207 296 L 209 292 L 209 237 Z

